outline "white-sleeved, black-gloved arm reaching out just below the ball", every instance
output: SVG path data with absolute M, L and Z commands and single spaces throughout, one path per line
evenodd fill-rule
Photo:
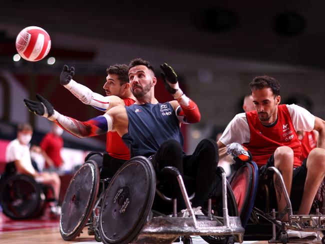
M 84 86 L 72 79 L 74 67 L 69 68 L 64 64 L 60 74 L 60 84 L 67 88 L 76 98 L 84 104 L 91 105 L 94 108 L 107 111 L 114 105 L 124 105 L 123 100 L 117 96 L 103 96 L 93 92 L 87 86 Z

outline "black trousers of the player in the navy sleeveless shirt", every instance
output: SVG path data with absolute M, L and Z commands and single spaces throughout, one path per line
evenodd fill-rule
M 177 211 L 186 208 L 175 176 L 162 174 L 165 166 L 176 167 L 185 181 L 186 191 L 195 191 L 192 206 L 203 206 L 212 185 L 218 162 L 218 147 L 214 140 L 201 140 L 192 155 L 184 155 L 178 141 L 164 141 L 154 155 L 157 179 L 164 181 L 166 195 L 177 198 Z

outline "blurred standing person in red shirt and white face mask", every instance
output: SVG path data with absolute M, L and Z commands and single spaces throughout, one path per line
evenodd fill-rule
M 45 158 L 45 168 L 47 169 L 57 171 L 63 164 L 61 157 L 61 148 L 63 147 L 62 133 L 63 129 L 52 122 L 51 131 L 45 134 L 39 144 Z

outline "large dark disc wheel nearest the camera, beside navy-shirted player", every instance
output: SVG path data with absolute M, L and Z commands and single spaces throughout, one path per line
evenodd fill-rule
M 104 243 L 135 241 L 151 211 L 155 172 L 151 162 L 136 156 L 125 162 L 112 177 L 102 201 L 99 233 Z

